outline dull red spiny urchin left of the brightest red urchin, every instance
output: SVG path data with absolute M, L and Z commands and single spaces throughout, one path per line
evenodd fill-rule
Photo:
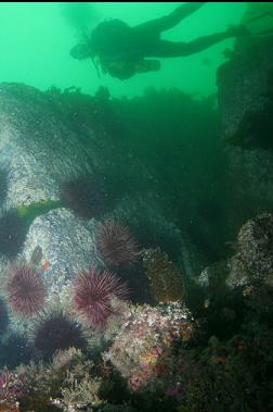
M 12 310 L 23 316 L 39 312 L 46 298 L 46 287 L 34 269 L 27 265 L 13 266 L 6 283 L 8 301 Z

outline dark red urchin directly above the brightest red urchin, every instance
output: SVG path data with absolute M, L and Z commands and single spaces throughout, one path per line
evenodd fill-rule
M 109 266 L 133 264 L 138 260 L 138 244 L 129 228 L 108 220 L 101 223 L 96 235 L 98 250 Z

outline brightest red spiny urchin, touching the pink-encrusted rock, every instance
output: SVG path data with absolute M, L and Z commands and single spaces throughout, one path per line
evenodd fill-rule
M 91 267 L 75 282 L 74 302 L 76 311 L 92 326 L 102 328 L 114 313 L 112 299 L 125 299 L 127 286 L 110 272 Z

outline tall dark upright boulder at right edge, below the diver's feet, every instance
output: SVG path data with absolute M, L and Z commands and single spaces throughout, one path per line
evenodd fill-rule
M 232 239 L 246 219 L 273 207 L 273 37 L 237 42 L 218 86 Z

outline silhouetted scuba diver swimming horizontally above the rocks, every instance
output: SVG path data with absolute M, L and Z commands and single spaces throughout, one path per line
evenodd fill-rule
M 70 55 L 77 60 L 91 58 L 96 70 L 95 58 L 98 58 L 104 73 L 125 80 L 136 73 L 158 71 L 160 61 L 153 58 L 187 57 L 224 39 L 248 34 L 244 25 L 238 25 L 190 42 L 174 42 L 160 38 L 162 32 L 172 28 L 204 4 L 205 2 L 181 4 L 167 16 L 134 27 L 120 20 L 103 22 L 94 28 L 84 43 L 77 45 L 70 50 Z

